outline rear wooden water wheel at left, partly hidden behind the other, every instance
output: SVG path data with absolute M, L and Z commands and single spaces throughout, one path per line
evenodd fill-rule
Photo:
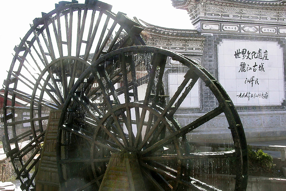
M 4 131 L 7 157 L 22 190 L 35 187 L 34 166 L 41 158 L 50 109 L 63 106 L 91 62 L 115 49 L 144 45 L 139 24 L 124 13 L 112 13 L 111 7 L 95 0 L 61 1 L 34 19 L 14 49 L 4 84 Z

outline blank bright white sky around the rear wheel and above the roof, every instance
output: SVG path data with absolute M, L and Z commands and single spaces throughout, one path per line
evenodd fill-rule
M 66 0 L 69 1 L 69 0 Z M 70 0 L 71 1 L 71 0 Z M 193 29 L 186 10 L 176 9 L 171 0 L 101 0 L 111 4 L 112 12 L 126 13 L 129 18 L 136 16 L 145 22 L 167 28 Z M 0 12 L 0 84 L 7 78 L 14 47 L 18 45 L 30 29 L 34 18 L 41 12 L 54 10 L 59 0 L 13 0 L 1 1 Z M 84 3 L 84 0 L 79 0 Z

